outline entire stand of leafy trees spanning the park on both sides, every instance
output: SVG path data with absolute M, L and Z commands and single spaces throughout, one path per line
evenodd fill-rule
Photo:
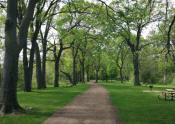
M 2 114 L 23 111 L 17 100 L 21 62 L 26 92 L 32 91 L 34 71 L 37 88 L 47 87 L 46 65 L 53 67 L 49 63 L 54 64 L 54 87 L 59 87 L 60 75 L 72 85 L 90 79 L 133 79 L 134 85 L 173 80 L 175 11 L 168 0 L 0 3 L 0 19 L 5 22 L 0 36 L 1 42 L 5 40 Z M 157 30 L 144 37 L 153 24 Z

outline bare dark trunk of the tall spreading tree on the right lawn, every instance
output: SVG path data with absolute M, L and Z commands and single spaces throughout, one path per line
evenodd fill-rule
M 133 53 L 133 64 L 134 64 L 134 85 L 140 86 L 139 80 L 139 55 L 138 53 Z

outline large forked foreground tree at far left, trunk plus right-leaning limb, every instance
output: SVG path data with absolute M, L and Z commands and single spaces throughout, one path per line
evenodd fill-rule
M 19 27 L 17 38 L 17 0 L 7 0 L 5 23 L 5 58 L 3 66 L 2 89 L 0 95 L 1 114 L 21 111 L 17 100 L 18 58 L 27 42 L 28 27 L 32 20 L 36 0 L 30 0 Z

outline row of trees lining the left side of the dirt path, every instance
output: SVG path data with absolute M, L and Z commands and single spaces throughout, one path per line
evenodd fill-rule
M 4 6 L 2 11 L 7 13 L 0 97 L 2 114 L 23 111 L 17 100 L 18 63 L 21 60 L 23 61 L 24 91 L 26 92 L 32 90 L 34 63 L 36 64 L 38 89 L 46 88 L 47 61 L 55 63 L 55 87 L 59 86 L 59 72 L 65 74 L 73 85 L 76 85 L 78 81 L 85 82 L 85 56 L 92 54 L 86 52 L 86 49 L 91 49 L 87 48 L 87 43 L 91 38 L 95 37 L 97 40 L 99 38 L 92 33 L 93 30 L 96 30 L 93 22 L 86 23 L 91 19 L 89 14 L 85 12 L 80 16 L 78 11 L 93 11 L 90 8 L 93 4 L 68 1 L 64 3 L 66 4 L 64 7 L 60 7 L 60 3 L 61 1 L 57 0 L 8 0 L 7 3 L 2 1 L 1 4 Z M 82 8 L 83 4 L 87 8 Z M 56 30 L 57 33 L 52 32 L 53 30 Z M 61 62 L 63 65 L 61 67 L 64 68 L 64 62 L 60 58 L 66 49 L 71 49 L 72 52 L 73 77 L 70 72 L 65 72 L 65 69 L 60 68 Z M 78 63 L 81 65 L 79 69 Z M 88 71 L 87 80 L 90 79 Z

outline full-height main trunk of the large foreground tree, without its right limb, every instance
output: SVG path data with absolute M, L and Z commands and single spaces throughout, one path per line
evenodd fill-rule
M 16 39 L 17 0 L 7 1 L 7 19 L 5 23 L 5 58 L 0 97 L 0 114 L 20 111 L 17 101 L 19 49 Z

